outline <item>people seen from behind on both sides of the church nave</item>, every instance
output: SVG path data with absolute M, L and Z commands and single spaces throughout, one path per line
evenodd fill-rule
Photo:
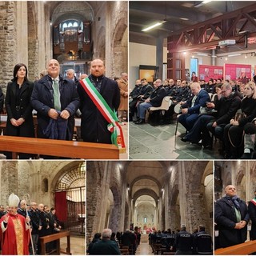
M 94 234 L 93 240 L 87 246 L 87 254 L 130 254 L 135 255 L 140 245 L 142 231 L 135 226 L 134 230 L 124 233 L 109 233 L 106 229 Z M 149 233 L 149 245 L 154 254 L 212 254 L 213 245 L 210 234 L 206 233 L 205 226 L 200 225 L 194 229 L 193 234 L 186 231 L 182 225 L 181 230 L 158 230 Z

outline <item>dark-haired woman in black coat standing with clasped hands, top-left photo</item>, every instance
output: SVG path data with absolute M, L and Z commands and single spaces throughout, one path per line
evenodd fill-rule
M 34 122 L 30 97 L 34 83 L 27 79 L 25 64 L 14 66 L 14 78 L 7 85 L 6 112 L 7 122 L 5 135 L 34 137 Z M 19 154 L 20 159 L 30 158 L 29 154 Z M 10 158 L 10 154 L 6 154 Z

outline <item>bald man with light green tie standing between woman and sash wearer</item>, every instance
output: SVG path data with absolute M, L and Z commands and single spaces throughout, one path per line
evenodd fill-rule
M 48 62 L 47 72 L 46 76 L 34 83 L 31 95 L 31 105 L 38 111 L 38 138 L 72 140 L 74 113 L 79 106 L 76 87 L 72 80 L 62 77 L 56 59 Z M 50 130 L 51 120 L 59 121 L 58 135 Z

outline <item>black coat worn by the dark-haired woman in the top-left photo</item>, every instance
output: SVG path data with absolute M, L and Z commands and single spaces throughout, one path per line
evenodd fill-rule
M 20 89 L 20 96 L 17 96 L 18 85 L 16 81 L 9 82 L 6 90 L 6 132 L 9 136 L 34 137 L 34 122 L 30 104 L 34 83 L 24 81 Z M 21 126 L 13 126 L 10 119 L 24 118 L 25 122 Z

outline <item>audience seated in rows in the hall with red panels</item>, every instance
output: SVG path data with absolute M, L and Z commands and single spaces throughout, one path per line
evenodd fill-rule
M 159 79 L 158 79 L 159 80 Z M 190 142 L 202 146 L 204 150 L 212 150 L 214 138 L 218 139 L 220 148 L 219 154 L 226 159 L 250 159 L 254 158 L 254 138 L 256 129 L 256 92 L 255 80 L 243 83 L 242 80 L 212 79 L 209 82 L 200 80 L 198 82 L 181 81 L 170 78 L 164 81 L 163 86 L 166 94 L 158 95 L 158 106 L 162 98 L 170 97 L 169 110 L 165 111 L 163 119 L 158 124 L 171 124 L 177 118 L 175 106 L 179 106 L 178 122 L 186 129 L 186 135 L 182 142 Z M 142 90 L 143 86 L 141 86 Z M 152 88 L 152 87 L 151 87 Z M 159 90 L 159 89 L 155 90 Z M 134 88 L 136 90 L 137 87 Z M 143 98 L 150 98 L 155 90 L 147 90 L 148 94 Z M 139 94 L 139 93 L 138 93 Z M 140 98 L 141 99 L 141 98 Z M 148 100 L 150 102 L 150 100 Z M 146 106 L 140 112 L 146 112 L 150 107 L 136 99 L 137 109 Z M 131 112 L 134 114 L 134 112 Z M 140 114 L 141 115 L 141 114 Z M 142 115 L 141 115 L 142 116 Z M 135 123 L 145 122 L 145 115 L 142 121 L 137 119 Z M 239 120 L 238 120 L 239 118 Z

